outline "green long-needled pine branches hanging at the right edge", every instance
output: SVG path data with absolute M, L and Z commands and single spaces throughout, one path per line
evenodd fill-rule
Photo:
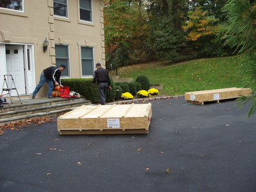
M 236 47 L 238 53 L 243 53 L 241 63 L 241 76 L 244 87 L 256 91 L 256 3 L 249 0 L 229 0 L 223 11 L 227 12 L 226 43 Z M 240 97 L 237 106 L 242 108 L 244 104 L 250 103 L 246 118 L 250 118 L 256 109 L 256 95 Z

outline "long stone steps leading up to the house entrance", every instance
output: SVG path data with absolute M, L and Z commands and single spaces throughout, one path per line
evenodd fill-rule
M 24 122 L 30 118 L 60 115 L 78 106 L 92 104 L 85 98 L 27 100 L 23 104 L 4 104 L 0 111 L 0 125 Z M 7 106 L 6 106 L 7 105 Z

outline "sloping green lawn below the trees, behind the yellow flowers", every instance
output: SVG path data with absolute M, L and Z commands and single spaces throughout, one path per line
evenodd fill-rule
M 241 56 L 207 58 L 170 64 L 166 61 L 142 63 L 118 68 L 118 76 L 145 75 L 150 84 L 163 84 L 161 95 L 183 95 L 185 92 L 242 87 L 239 66 Z

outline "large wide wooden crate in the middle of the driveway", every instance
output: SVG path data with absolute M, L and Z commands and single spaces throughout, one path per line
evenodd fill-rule
M 148 133 L 152 104 L 80 106 L 58 117 L 60 134 Z

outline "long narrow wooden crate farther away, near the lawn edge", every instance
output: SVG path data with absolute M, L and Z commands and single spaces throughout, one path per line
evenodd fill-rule
M 204 102 L 216 101 L 220 102 L 223 99 L 233 99 L 240 97 L 240 95 L 251 95 L 251 88 L 223 88 L 218 90 L 204 90 L 198 92 L 186 92 L 184 97 L 187 102 L 194 104 L 204 104 Z

